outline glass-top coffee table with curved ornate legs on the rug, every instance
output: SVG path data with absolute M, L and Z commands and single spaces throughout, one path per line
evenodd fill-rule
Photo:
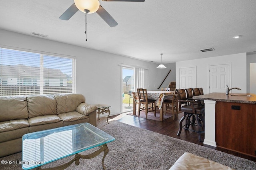
M 104 166 L 104 158 L 108 154 L 106 144 L 114 140 L 114 137 L 90 123 L 28 133 L 22 137 L 22 168 L 25 170 L 36 168 L 76 154 L 70 162 L 55 167 L 55 169 L 65 169 L 73 162 L 78 165 L 80 158 L 90 159 L 104 152 L 102 167 L 106 169 Z M 88 155 L 78 154 L 94 147 L 100 147 L 100 149 Z

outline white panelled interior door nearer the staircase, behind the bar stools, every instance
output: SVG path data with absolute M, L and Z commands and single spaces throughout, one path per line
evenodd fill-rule
M 180 68 L 179 88 L 196 88 L 196 67 Z

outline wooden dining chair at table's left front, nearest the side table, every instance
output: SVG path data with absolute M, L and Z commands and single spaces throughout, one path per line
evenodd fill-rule
M 154 116 L 156 116 L 156 100 L 148 99 L 147 89 L 146 88 L 137 88 L 138 96 L 139 96 L 139 112 L 138 117 L 140 117 L 140 111 L 145 110 L 146 119 L 148 119 L 148 112 L 154 111 Z M 149 104 L 152 104 L 149 107 Z M 142 106 L 142 108 L 141 108 Z M 152 109 L 149 111 L 149 109 Z

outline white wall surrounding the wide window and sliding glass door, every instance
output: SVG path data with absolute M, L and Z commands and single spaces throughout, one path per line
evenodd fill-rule
M 76 58 L 76 93 L 83 94 L 89 104 L 108 104 L 111 115 L 121 113 L 122 77 L 119 64 L 130 64 L 149 68 L 148 90 L 157 90 L 167 74 L 167 69 L 175 70 L 175 63 L 167 69 L 157 69 L 158 64 L 140 61 L 129 57 L 87 49 L 44 38 L 33 37 L 0 29 L 0 47 L 44 53 L 48 55 L 74 56 Z M 90 43 L 90 41 L 84 42 Z M 174 74 L 175 75 L 175 74 Z M 175 81 L 175 76 L 168 81 Z M 170 79 L 172 77 L 172 79 Z M 166 85 L 166 86 L 167 86 Z M 165 87 L 165 86 L 162 86 Z

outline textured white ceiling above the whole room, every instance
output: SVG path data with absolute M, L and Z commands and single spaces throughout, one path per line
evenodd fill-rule
M 73 0 L 1 0 L 0 28 L 145 61 L 174 63 L 256 51 L 256 0 L 145 0 L 100 4 L 118 22 L 97 13 L 58 19 Z M 242 35 L 234 39 L 235 35 Z M 201 49 L 215 51 L 202 53 Z

